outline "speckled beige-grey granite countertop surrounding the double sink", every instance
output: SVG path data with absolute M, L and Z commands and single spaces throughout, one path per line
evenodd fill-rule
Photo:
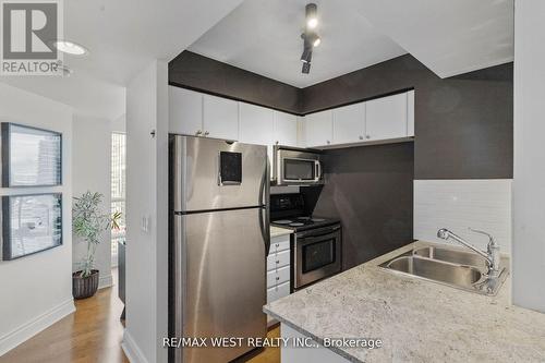
M 353 362 L 545 362 L 545 314 L 513 306 L 510 278 L 480 295 L 378 267 L 416 241 L 265 305 L 301 334 L 376 338 L 383 348 L 329 348 Z

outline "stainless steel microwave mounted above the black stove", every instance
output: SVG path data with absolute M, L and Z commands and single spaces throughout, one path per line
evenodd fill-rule
M 324 183 L 319 150 L 276 145 L 272 170 L 277 185 Z

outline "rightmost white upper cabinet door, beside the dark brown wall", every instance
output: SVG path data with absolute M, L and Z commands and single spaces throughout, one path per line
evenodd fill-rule
M 407 93 L 365 102 L 365 141 L 408 136 Z

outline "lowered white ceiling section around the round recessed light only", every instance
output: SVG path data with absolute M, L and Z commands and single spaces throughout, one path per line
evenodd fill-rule
M 125 85 L 153 59 L 171 60 L 242 0 L 64 1 L 65 37 L 90 49 L 75 71 Z

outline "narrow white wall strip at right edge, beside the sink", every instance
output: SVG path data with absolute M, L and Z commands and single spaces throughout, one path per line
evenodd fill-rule
M 545 1 L 514 7 L 512 295 L 545 312 Z

